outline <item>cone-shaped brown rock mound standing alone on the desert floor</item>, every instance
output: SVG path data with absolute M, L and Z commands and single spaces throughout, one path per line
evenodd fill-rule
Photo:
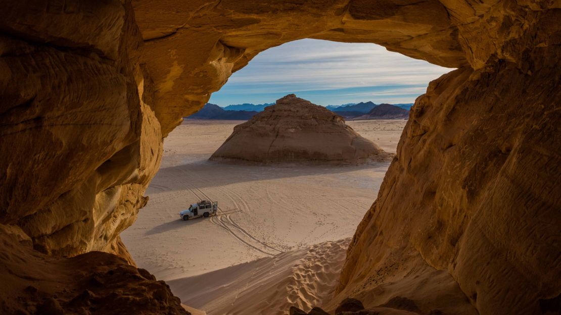
M 391 156 L 358 135 L 343 117 L 289 94 L 234 127 L 210 160 L 356 164 Z

